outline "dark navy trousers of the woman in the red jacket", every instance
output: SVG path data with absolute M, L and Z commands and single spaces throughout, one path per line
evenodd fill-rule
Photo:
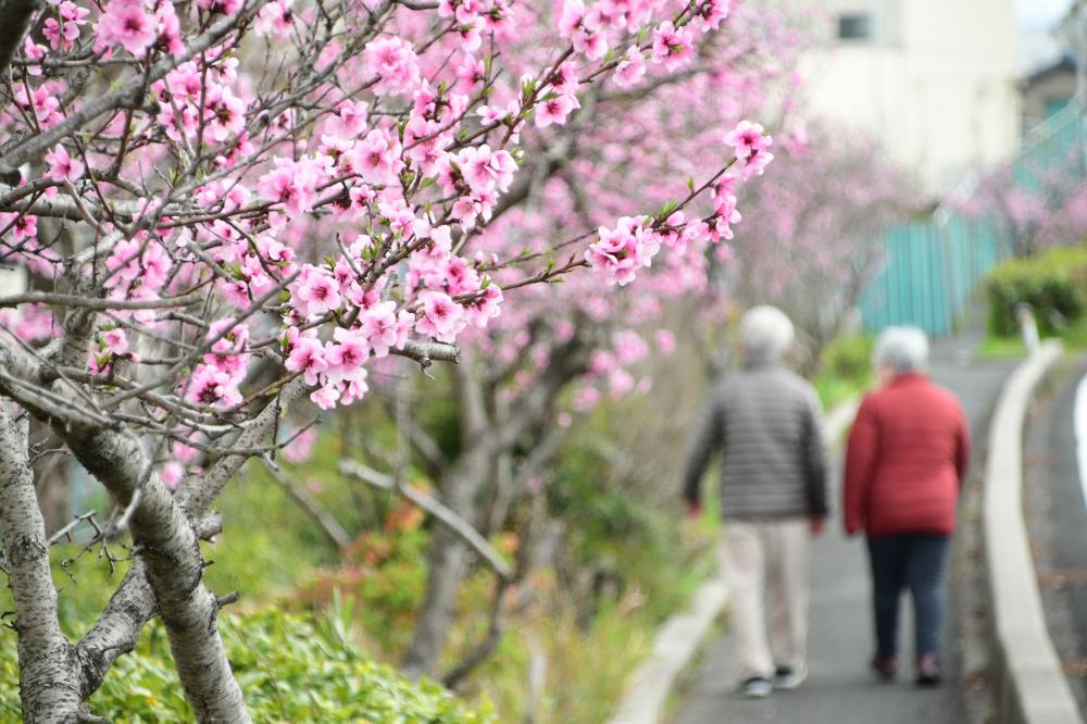
M 937 653 L 944 619 L 944 569 L 950 536 L 898 535 L 869 538 L 876 653 L 898 653 L 898 607 L 910 589 L 916 624 L 916 656 Z

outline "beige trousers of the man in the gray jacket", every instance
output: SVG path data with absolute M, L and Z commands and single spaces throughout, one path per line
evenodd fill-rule
M 725 521 L 721 569 L 745 676 L 804 665 L 810 546 L 807 520 Z

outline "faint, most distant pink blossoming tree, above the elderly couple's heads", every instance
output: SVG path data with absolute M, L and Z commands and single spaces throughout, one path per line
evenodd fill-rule
M 879 271 L 879 235 L 920 204 L 907 174 L 861 132 L 798 123 L 782 134 L 777 157 L 774 183 L 741 196 L 759 223 L 737 228 L 726 284 L 745 305 L 785 310 L 814 370 Z

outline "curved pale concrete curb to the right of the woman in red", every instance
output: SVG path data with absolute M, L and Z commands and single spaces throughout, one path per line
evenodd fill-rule
M 1061 358 L 1047 341 L 1004 385 L 989 428 L 983 536 L 992 604 L 997 716 L 1009 724 L 1084 724 L 1046 628 L 1023 519 L 1023 424 L 1035 389 Z

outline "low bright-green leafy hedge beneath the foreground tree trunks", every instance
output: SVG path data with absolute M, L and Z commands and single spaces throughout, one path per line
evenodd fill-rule
M 257 722 L 493 724 L 433 682 L 413 683 L 367 658 L 340 617 L 320 622 L 276 610 L 224 615 L 223 641 Z M 13 634 L 9 638 L 13 639 Z M 0 721 L 18 721 L 15 642 L 0 642 Z M 129 724 L 186 722 L 185 701 L 161 625 L 117 659 L 91 710 Z

